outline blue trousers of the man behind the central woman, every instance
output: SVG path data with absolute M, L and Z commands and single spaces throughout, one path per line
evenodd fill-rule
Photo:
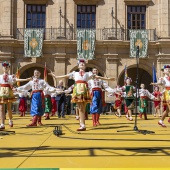
M 90 106 L 90 113 L 102 113 L 102 94 L 100 91 L 93 91 L 92 103 Z

